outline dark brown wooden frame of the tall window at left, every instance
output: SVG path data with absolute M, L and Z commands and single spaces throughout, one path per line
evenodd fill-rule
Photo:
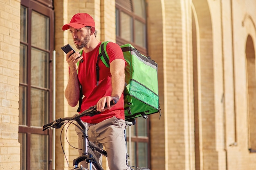
M 40 3 L 41 2 L 41 3 Z M 36 47 L 36 49 L 40 49 L 44 52 L 47 52 L 49 54 L 49 72 L 47 77 L 49 78 L 48 80 L 48 87 L 43 88 L 43 87 L 36 87 L 37 89 L 43 89 L 47 91 L 48 94 L 48 103 L 47 105 L 49 106 L 47 108 L 49 116 L 48 116 L 48 121 L 52 121 L 52 97 L 53 97 L 53 86 L 52 86 L 52 78 L 53 78 L 53 65 L 52 65 L 52 59 L 53 59 L 53 51 L 54 51 L 54 11 L 53 11 L 53 2 L 52 0 L 38 0 L 38 1 L 33 1 L 33 0 L 21 0 L 20 5 L 24 6 L 27 8 L 27 42 L 23 42 L 20 40 L 20 44 L 24 44 L 27 46 L 27 65 L 26 65 L 26 70 L 27 70 L 27 75 L 31 75 L 31 49 L 34 48 L 31 45 L 31 14 L 32 11 L 36 11 L 42 15 L 45 15 L 49 17 L 49 48 L 48 50 L 45 49 L 40 49 Z M 30 157 L 32 156 L 30 146 L 31 146 L 31 134 L 38 134 L 38 135 L 46 135 L 47 140 L 48 140 L 48 155 L 47 155 L 47 160 L 48 160 L 48 169 L 52 169 L 52 130 L 48 131 L 42 131 L 41 127 L 34 127 L 31 126 L 30 118 L 31 118 L 31 78 L 30 76 L 27 76 L 27 82 L 26 83 L 20 83 L 19 87 L 27 87 L 26 95 L 27 98 L 26 100 L 26 110 L 25 113 L 27 114 L 26 118 L 26 125 L 20 125 L 19 124 L 19 134 L 23 133 L 25 134 L 25 141 L 26 141 L 26 146 L 25 146 L 25 154 L 26 154 L 26 168 L 29 170 L 31 168 L 31 163 L 30 163 Z M 20 113 L 21 114 L 21 113 Z M 21 147 L 22 148 L 22 147 Z

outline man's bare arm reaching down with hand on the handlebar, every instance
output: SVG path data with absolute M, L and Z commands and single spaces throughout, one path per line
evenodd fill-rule
M 112 79 L 112 93 L 111 96 L 104 96 L 97 103 L 97 110 L 104 111 L 105 103 L 108 104 L 107 109 L 110 109 L 111 100 L 119 100 L 124 92 L 125 85 L 125 62 L 123 59 L 115 59 L 110 63 L 110 73 Z

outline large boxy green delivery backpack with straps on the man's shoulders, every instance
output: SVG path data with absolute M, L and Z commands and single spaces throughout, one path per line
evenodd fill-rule
M 98 59 L 109 68 L 109 57 L 106 46 L 110 41 L 101 43 Z M 120 46 L 124 59 L 127 62 L 125 68 L 125 89 L 124 89 L 124 109 L 125 120 L 131 120 L 143 116 L 147 118 L 149 114 L 159 112 L 159 96 L 157 81 L 157 63 L 148 57 L 140 54 L 131 44 Z M 82 54 L 82 51 L 80 52 Z M 98 61 L 97 61 L 98 63 Z M 79 63 L 78 63 L 79 64 Z M 96 64 L 97 84 L 99 81 L 99 66 Z M 81 99 L 80 93 L 80 99 Z M 81 102 L 79 102 L 81 105 Z M 160 113 L 161 116 L 161 113 Z

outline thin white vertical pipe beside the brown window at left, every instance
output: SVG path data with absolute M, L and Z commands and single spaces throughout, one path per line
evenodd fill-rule
M 53 88 L 52 88 L 52 119 L 56 119 L 56 51 L 53 51 Z M 52 170 L 55 170 L 55 128 L 52 129 Z

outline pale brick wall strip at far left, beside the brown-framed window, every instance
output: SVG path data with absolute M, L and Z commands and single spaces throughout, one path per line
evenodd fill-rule
M 0 169 L 20 169 L 20 1 L 0 0 Z

